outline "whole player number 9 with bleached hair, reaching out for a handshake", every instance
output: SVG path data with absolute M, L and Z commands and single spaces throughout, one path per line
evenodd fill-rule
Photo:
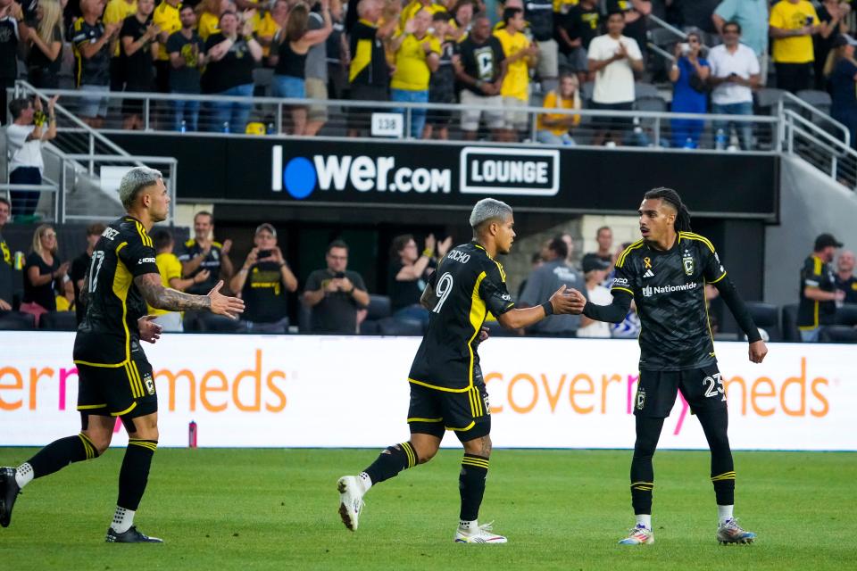
M 480 200 L 470 213 L 470 226 L 473 241 L 446 253 L 420 299 L 430 315 L 408 375 L 411 440 L 390 446 L 361 474 L 337 482 L 339 515 L 352 531 L 370 487 L 428 462 L 437 454 L 445 431 L 451 430 L 464 447 L 455 542 L 506 542 L 503 535 L 492 533 L 490 525 L 478 524 L 491 455 L 490 407 L 477 353 L 484 339 L 482 324 L 490 311 L 503 327 L 528 327 L 547 315 L 569 313 L 574 298 L 564 294 L 563 285 L 542 305 L 516 308 L 506 291 L 503 266 L 495 260 L 498 253 L 512 248 L 512 208 L 491 198 Z

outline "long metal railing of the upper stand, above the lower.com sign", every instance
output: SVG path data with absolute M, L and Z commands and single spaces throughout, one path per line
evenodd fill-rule
M 46 94 L 59 94 L 61 101 L 73 109 L 74 102 L 81 97 L 91 97 L 89 93 L 79 91 L 46 91 Z M 778 141 L 778 118 L 769 115 L 716 115 L 695 113 L 669 113 L 665 111 L 600 111 L 592 109 L 567 110 L 553 109 L 539 106 L 521 106 L 514 108 L 497 107 L 493 104 L 462 105 L 457 103 L 398 103 L 398 102 L 366 102 L 350 100 L 311 100 L 311 99 L 282 99 L 278 97 L 237 97 L 217 95 L 180 95 L 180 94 L 149 94 L 149 93 L 104 93 L 102 96 L 108 99 L 108 113 L 104 120 L 102 133 L 129 133 L 131 131 L 121 129 L 122 125 L 122 100 L 132 99 L 142 102 L 139 109 L 142 110 L 142 123 L 147 133 L 174 133 L 189 131 L 187 124 L 184 130 L 177 124 L 173 104 L 175 102 L 200 103 L 200 115 L 198 128 L 200 133 L 224 135 L 224 130 L 229 131 L 229 136 L 234 137 L 244 133 L 245 125 L 235 128 L 228 125 L 224 129 L 220 119 L 212 119 L 210 113 L 217 113 L 216 106 L 243 105 L 248 113 L 247 122 L 255 123 L 261 127 L 253 131 L 257 135 L 269 135 L 283 137 L 289 134 L 292 127 L 291 116 L 293 108 L 312 110 L 323 109 L 327 120 L 324 128 L 320 131 L 320 137 L 345 137 L 358 133 L 361 137 L 370 137 L 372 134 L 372 116 L 379 113 L 387 113 L 386 117 L 401 117 L 395 134 L 388 137 L 401 139 L 422 139 L 423 132 L 412 128 L 415 121 L 420 120 L 420 115 L 428 115 L 428 122 L 437 122 L 437 117 L 443 115 L 448 120 L 447 130 L 450 139 L 478 138 L 482 141 L 510 142 L 500 137 L 498 131 L 505 129 L 484 128 L 480 131 L 465 133 L 461 128 L 462 113 L 476 113 L 486 116 L 505 117 L 510 113 L 519 114 L 523 120 L 518 121 L 520 129 L 510 129 L 513 144 L 520 143 L 537 144 L 544 140 L 538 128 L 538 118 L 545 114 L 554 115 L 577 115 L 580 118 L 577 127 L 571 128 L 570 137 L 575 145 L 602 146 L 605 138 L 616 145 L 645 148 L 698 148 L 710 150 L 747 150 L 762 153 L 777 152 Z M 650 100 L 651 102 L 652 100 Z M 666 109 L 666 103 L 661 99 L 654 99 L 657 106 Z M 71 103 L 70 103 L 71 102 Z M 644 104 L 643 102 L 640 103 Z M 684 122 L 685 124 L 682 124 Z M 718 136 L 718 130 L 722 128 L 725 132 Z M 60 125 L 60 130 L 74 132 L 77 128 L 73 125 Z M 743 137 L 745 130 L 752 132 L 752 140 L 745 142 Z M 251 129 L 252 130 L 252 129 Z M 677 137 L 676 131 L 687 132 L 685 137 Z M 238 132 L 237 132 L 238 131 Z M 610 132 L 611 137 L 604 137 L 605 132 Z M 500 138 L 496 138 L 500 137 Z M 688 142 L 687 139 L 690 139 Z M 562 142 L 556 143 L 562 145 Z M 731 148 L 730 148 L 731 147 Z

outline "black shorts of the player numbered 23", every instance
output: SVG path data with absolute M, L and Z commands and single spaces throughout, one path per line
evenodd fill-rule
M 726 392 L 716 365 L 680 371 L 640 371 L 634 399 L 634 414 L 666 418 L 676 403 L 678 391 L 692 413 L 726 409 Z

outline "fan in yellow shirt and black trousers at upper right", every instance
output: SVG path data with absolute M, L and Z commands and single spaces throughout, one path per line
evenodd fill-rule
M 777 87 L 792 93 L 811 87 L 815 53 L 812 36 L 821 30 L 815 8 L 807 0 L 780 0 L 770 9 L 770 36 Z

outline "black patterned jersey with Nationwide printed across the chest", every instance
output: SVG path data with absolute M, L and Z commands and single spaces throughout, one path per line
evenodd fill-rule
M 726 277 L 707 238 L 679 232 L 669 251 L 639 240 L 616 261 L 611 292 L 630 294 L 640 317 L 640 369 L 675 371 L 717 362 L 705 284 Z

